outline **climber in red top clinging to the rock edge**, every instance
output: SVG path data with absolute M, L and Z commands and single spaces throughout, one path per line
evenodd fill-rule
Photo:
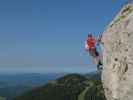
M 101 57 L 96 48 L 96 43 L 99 44 L 100 41 L 101 41 L 101 36 L 96 41 L 96 39 L 92 36 L 91 33 L 88 34 L 88 38 L 85 41 L 85 49 L 93 57 L 94 63 L 97 65 L 98 70 L 102 69 Z

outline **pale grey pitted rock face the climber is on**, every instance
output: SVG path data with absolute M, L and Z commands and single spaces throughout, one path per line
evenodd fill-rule
M 133 100 L 133 2 L 124 5 L 108 25 L 102 42 L 107 100 Z

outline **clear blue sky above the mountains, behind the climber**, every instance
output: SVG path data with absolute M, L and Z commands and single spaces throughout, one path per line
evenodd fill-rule
M 1 0 L 1 71 L 89 72 L 87 33 L 95 36 L 126 0 Z

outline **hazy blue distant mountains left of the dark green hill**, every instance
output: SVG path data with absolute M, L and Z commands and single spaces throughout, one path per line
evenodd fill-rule
M 48 81 L 55 80 L 63 75 L 64 73 L 0 74 L 0 96 L 6 98 L 6 100 L 11 100 L 25 91 L 44 85 Z

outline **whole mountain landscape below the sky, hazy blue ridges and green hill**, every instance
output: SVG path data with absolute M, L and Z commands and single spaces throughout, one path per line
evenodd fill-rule
M 0 100 L 105 100 L 105 97 L 96 72 L 30 73 L 0 74 Z

